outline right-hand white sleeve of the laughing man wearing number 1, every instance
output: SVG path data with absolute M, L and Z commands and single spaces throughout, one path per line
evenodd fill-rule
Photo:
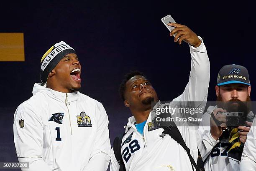
M 100 115 L 93 153 L 84 167 L 84 171 L 106 171 L 110 162 L 110 139 L 108 131 L 108 115 L 100 103 Z

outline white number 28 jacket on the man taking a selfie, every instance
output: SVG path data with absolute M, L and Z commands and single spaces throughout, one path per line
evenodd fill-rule
M 200 37 L 199 37 L 200 38 Z M 200 38 L 202 40 L 202 38 Z M 197 48 L 190 46 L 191 71 L 189 83 L 184 92 L 173 101 L 206 101 L 210 80 L 210 63 L 204 43 Z M 203 104 L 203 103 L 202 103 Z M 177 114 L 179 115 L 179 114 Z M 185 117 L 183 117 L 185 118 Z M 151 113 L 143 129 L 143 136 L 137 131 L 134 116 L 128 119 L 123 136 L 121 154 L 126 171 L 192 171 L 187 152 L 169 135 L 160 136 L 163 128 L 148 129 Z M 130 129 L 128 129 L 130 128 Z M 190 149 L 190 154 L 197 161 L 197 130 L 188 126 L 178 126 L 178 129 Z M 111 149 L 110 171 L 119 171 L 119 164 Z M 195 167 L 194 167 L 195 170 Z

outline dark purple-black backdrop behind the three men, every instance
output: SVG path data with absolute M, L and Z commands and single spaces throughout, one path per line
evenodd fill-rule
M 0 162 L 17 161 L 13 114 L 39 82 L 41 56 L 61 40 L 77 51 L 82 63 L 81 92 L 105 106 L 111 143 L 131 116 L 118 95 L 125 73 L 131 69 L 145 73 L 161 101 L 179 96 L 187 84 L 189 47 L 169 37 L 161 22 L 168 14 L 205 42 L 211 64 L 208 101 L 215 101 L 214 86 L 223 65 L 246 66 L 254 85 L 254 5 L 193 2 L 2 2 L 0 33 L 24 33 L 26 61 L 0 62 Z M 255 97 L 253 88 L 251 96 Z

